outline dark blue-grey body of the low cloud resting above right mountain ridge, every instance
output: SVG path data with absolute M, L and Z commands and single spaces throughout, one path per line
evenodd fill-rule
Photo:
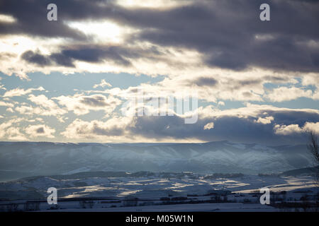
M 259 117 L 274 117 L 269 124 L 257 123 Z M 283 136 L 274 133 L 274 125 L 298 124 L 299 127 L 307 122 L 319 121 L 319 114 L 299 110 L 291 111 L 260 111 L 257 117 L 236 117 L 225 114 L 222 117 L 199 118 L 196 124 L 184 124 L 184 119 L 178 116 L 172 117 L 137 117 L 130 132 L 140 134 L 146 138 L 157 138 L 159 141 L 165 138 L 198 138 L 201 141 L 234 141 L 246 143 L 264 143 L 268 145 L 283 143 L 301 143 L 306 135 L 293 133 Z M 213 129 L 203 127 L 213 122 Z

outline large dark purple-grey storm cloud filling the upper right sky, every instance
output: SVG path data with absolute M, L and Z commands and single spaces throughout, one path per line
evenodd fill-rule
M 319 40 L 319 4 L 271 1 L 271 21 L 259 20 L 264 1 L 207 1 L 169 11 L 127 16 L 144 28 L 139 39 L 196 49 L 211 66 L 261 66 L 288 71 L 319 71 L 308 40 Z M 259 39 L 256 38 L 259 35 Z M 270 35 L 267 39 L 263 35 Z

